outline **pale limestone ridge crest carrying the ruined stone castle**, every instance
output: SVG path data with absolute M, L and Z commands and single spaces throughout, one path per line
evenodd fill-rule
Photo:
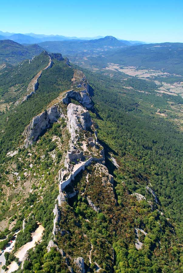
M 65 231 L 62 231 L 59 228 L 59 222 L 62 219 L 62 207 L 64 207 L 68 198 L 72 198 L 77 194 L 77 191 L 75 190 L 69 193 L 67 191 L 63 192 L 63 189 L 65 189 L 67 185 L 71 185 L 72 187 L 72 181 L 75 179 L 75 176 L 81 170 L 84 170 L 85 167 L 89 166 L 92 161 L 96 162 L 99 168 L 102 168 L 103 164 L 105 164 L 104 149 L 97 138 L 95 126 L 93 125 L 90 113 L 87 110 L 93 109 L 93 103 L 88 93 L 88 83 L 84 74 L 79 70 L 76 70 L 74 73 L 72 87 L 72 90 L 59 96 L 56 103 L 53 103 L 47 110 L 35 116 L 24 131 L 26 137 L 25 147 L 32 145 L 33 142 L 38 140 L 39 136 L 42 136 L 46 130 L 51 127 L 53 123 L 58 122 L 61 117 L 65 120 L 67 130 L 70 133 L 70 150 L 68 150 L 65 155 L 65 167 L 59 170 L 59 195 L 53 210 L 54 240 L 56 240 L 57 234 L 65 234 Z M 81 103 L 82 106 L 71 103 L 70 99 L 76 100 Z M 65 108 L 66 105 L 67 108 Z M 109 178 L 109 183 L 112 184 L 113 177 L 109 175 L 107 168 L 105 167 L 103 171 Z M 105 183 L 106 181 L 103 181 L 104 186 Z M 94 211 L 97 213 L 101 211 L 100 207 L 95 206 L 92 199 L 90 199 L 90 196 L 87 196 L 86 200 Z M 47 250 L 50 251 L 51 247 L 58 248 L 53 241 L 49 241 Z M 57 250 L 59 251 L 59 248 Z M 67 256 L 67 254 L 65 255 L 68 259 L 67 265 L 70 272 L 73 272 L 73 269 L 70 267 L 69 261 L 72 261 L 71 264 L 75 264 L 77 268 L 76 272 L 85 272 L 83 257 L 73 259 L 72 257 Z

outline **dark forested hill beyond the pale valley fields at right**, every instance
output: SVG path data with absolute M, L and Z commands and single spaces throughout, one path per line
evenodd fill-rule
M 160 43 L 135 45 L 119 49 L 106 55 L 105 62 L 120 65 L 140 66 L 151 69 L 163 69 L 169 73 L 183 75 L 183 43 Z

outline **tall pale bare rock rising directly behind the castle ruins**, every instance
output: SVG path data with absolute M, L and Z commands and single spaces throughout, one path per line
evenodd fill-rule
M 69 103 L 67 106 L 67 127 L 73 141 L 80 130 L 87 130 L 92 125 L 90 113 L 79 105 Z

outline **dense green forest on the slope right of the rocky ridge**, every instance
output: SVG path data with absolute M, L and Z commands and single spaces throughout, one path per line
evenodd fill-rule
M 145 195 L 145 186 L 151 183 L 158 203 L 182 242 L 183 133 L 172 122 L 156 116 L 151 108 L 151 102 L 157 107 L 168 107 L 170 96 L 127 92 L 116 80 L 96 73 L 95 76 L 88 73 L 87 77 L 95 90 L 93 100 L 101 117 L 96 119 L 100 139 L 109 146 L 109 151 L 114 150 L 120 162 L 116 176 L 132 193 Z M 140 99 L 143 102 L 139 104 Z M 181 97 L 173 99 L 183 103 Z

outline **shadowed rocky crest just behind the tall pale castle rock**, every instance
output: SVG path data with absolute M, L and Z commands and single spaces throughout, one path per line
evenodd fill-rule
M 69 104 L 70 99 L 75 99 L 79 103 L 81 103 L 84 107 L 86 107 L 86 109 L 92 109 L 93 103 L 92 103 L 92 100 L 90 99 L 87 89 L 84 89 L 82 91 L 75 91 L 75 90 L 68 91 L 66 93 L 66 96 L 62 99 L 63 103 Z

